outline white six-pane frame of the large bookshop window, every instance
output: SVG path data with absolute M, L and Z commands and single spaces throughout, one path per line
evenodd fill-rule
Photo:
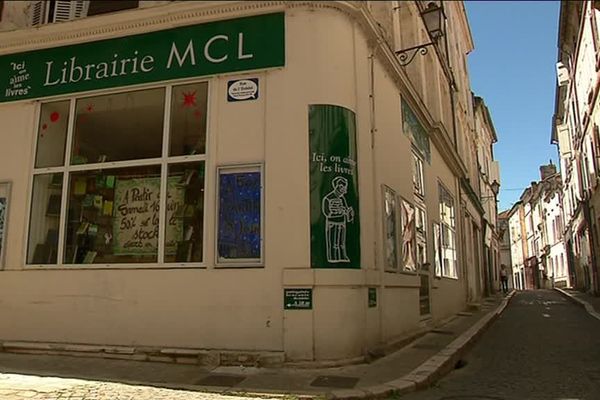
M 207 88 L 207 99 L 206 99 L 206 137 L 205 137 L 205 153 L 204 154 L 192 154 L 192 155 L 180 155 L 180 156 L 169 156 L 170 147 L 170 130 L 171 130 L 171 104 L 172 104 L 172 93 L 173 87 L 184 86 L 189 84 L 200 84 L 206 83 Z M 27 190 L 27 211 L 25 221 L 25 241 L 22 249 L 21 256 L 23 257 L 24 269 L 39 269 L 39 270 L 93 270 L 93 269 L 180 269 L 180 268 L 207 268 L 209 262 L 207 257 L 207 241 L 208 241 L 208 206 L 209 206 L 209 181 L 212 176 L 208 173 L 209 160 L 208 155 L 210 144 L 211 144 L 211 89 L 213 86 L 213 80 L 210 77 L 203 79 L 192 78 L 192 79 L 181 79 L 168 82 L 153 82 L 142 85 L 133 85 L 128 87 L 113 87 L 107 89 L 100 89 L 88 92 L 81 92 L 75 94 L 67 94 L 61 96 L 52 96 L 48 98 L 36 100 L 35 110 L 35 123 L 33 124 L 33 145 L 32 145 L 32 157 L 30 163 L 29 177 L 28 177 L 28 190 Z M 97 97 L 111 94 L 125 94 L 130 92 L 138 92 L 149 89 L 164 89 L 164 103 L 163 103 L 163 126 L 162 126 L 162 148 L 161 156 L 154 158 L 142 158 L 138 160 L 123 160 L 123 161 L 108 161 L 108 162 L 93 162 L 87 164 L 71 164 L 72 158 L 72 146 L 74 138 L 75 128 L 75 114 L 77 101 L 89 97 Z M 58 101 L 66 101 L 69 103 L 69 115 L 67 124 L 67 137 L 65 140 L 65 156 L 64 163 L 58 167 L 42 167 L 36 168 L 36 154 L 38 151 L 38 135 L 40 129 L 40 116 L 41 109 L 44 103 L 52 103 Z M 204 205 L 203 205 L 203 239 L 202 239 L 202 255 L 203 259 L 200 262 L 165 262 L 165 222 L 166 222 L 166 209 L 167 203 L 167 180 L 168 180 L 168 167 L 175 164 L 184 164 L 191 162 L 203 162 L 204 169 L 206 171 L 204 176 Z M 71 173 L 79 171 L 97 171 L 104 170 L 110 171 L 114 169 L 122 169 L 127 167 L 140 167 L 140 166 L 159 166 L 160 167 L 160 210 L 159 213 L 159 236 L 158 236 L 158 248 L 157 248 L 157 260 L 156 262 L 148 263 L 97 263 L 97 264 L 73 264 L 67 263 L 64 260 L 65 256 L 65 242 L 66 242 L 66 224 L 68 219 L 68 201 L 69 201 L 69 178 Z M 32 197 L 33 197 L 33 182 L 37 175 L 62 173 L 62 192 L 61 192 L 61 205 L 60 205 L 60 217 L 59 217 L 59 234 L 58 234 L 58 248 L 57 248 L 57 262 L 55 264 L 36 264 L 28 263 L 29 253 L 29 233 L 32 216 Z

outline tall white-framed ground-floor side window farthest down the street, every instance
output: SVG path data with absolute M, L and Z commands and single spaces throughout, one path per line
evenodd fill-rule
M 448 278 L 458 278 L 456 268 L 456 213 L 450 192 L 439 185 L 441 273 Z

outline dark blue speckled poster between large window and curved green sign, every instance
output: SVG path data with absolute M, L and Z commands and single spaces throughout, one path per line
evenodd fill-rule
M 260 259 L 260 172 L 219 174 L 219 261 Z

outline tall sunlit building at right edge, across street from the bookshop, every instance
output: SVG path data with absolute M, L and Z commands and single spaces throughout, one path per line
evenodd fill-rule
M 562 2 L 551 141 L 558 145 L 569 281 L 600 293 L 600 9 L 595 1 Z

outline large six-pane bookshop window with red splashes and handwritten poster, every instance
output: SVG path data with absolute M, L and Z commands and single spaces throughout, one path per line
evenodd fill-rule
M 207 97 L 200 82 L 43 103 L 27 263 L 202 262 Z

